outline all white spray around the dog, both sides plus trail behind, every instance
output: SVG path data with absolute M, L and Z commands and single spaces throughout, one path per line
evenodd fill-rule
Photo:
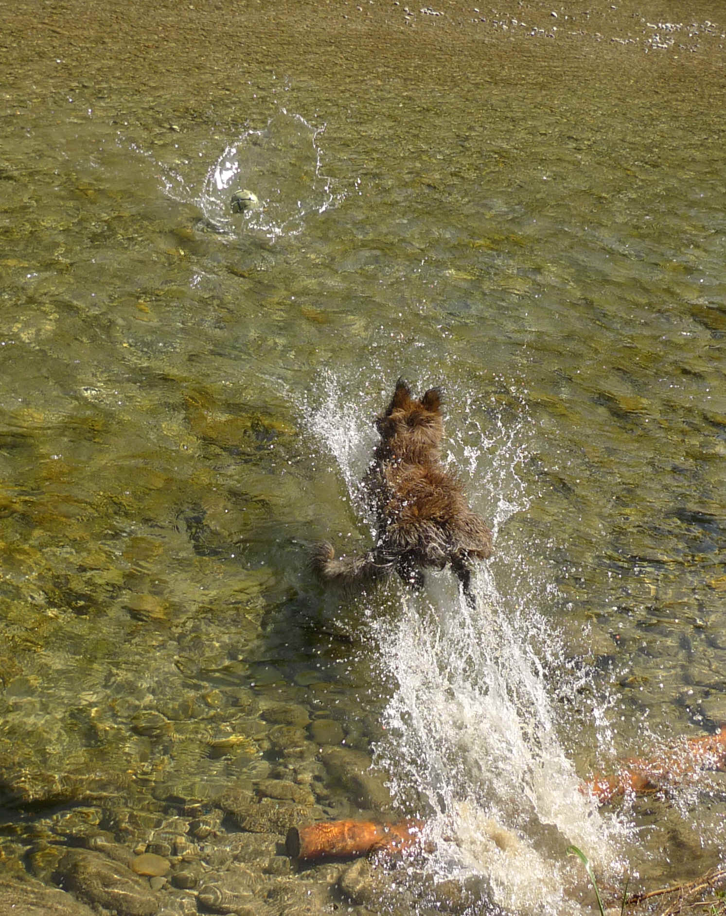
M 375 439 L 360 410 L 369 396 L 353 395 L 331 374 L 317 390 L 323 399 L 308 409 L 309 428 L 335 457 L 355 503 Z M 529 505 L 519 474 L 526 421 L 508 424 L 495 413 L 485 434 L 470 395 L 462 406 L 452 413 L 468 419 L 449 442 L 448 460 L 490 518 L 493 496 L 498 529 Z M 478 505 L 485 498 L 489 513 Z M 361 518 L 371 523 L 362 509 Z M 423 595 L 402 593 L 395 613 L 367 615 L 381 671 L 394 683 L 376 763 L 389 773 L 394 797 L 416 800 L 435 841 L 427 864 L 435 879 L 485 878 L 489 902 L 482 900 L 481 912 L 491 904 L 572 916 L 587 910 L 575 900 L 580 876 L 567 845 L 610 870 L 624 828 L 578 791 L 557 736 L 546 672 L 561 670 L 565 652 L 537 610 L 547 585 L 522 556 L 501 559 L 518 564 L 522 584 L 501 594 L 490 563 L 475 577 L 474 611 L 445 572 L 427 573 Z

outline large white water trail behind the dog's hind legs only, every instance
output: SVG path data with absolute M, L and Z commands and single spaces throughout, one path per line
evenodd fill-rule
M 574 843 L 610 866 L 611 828 L 578 791 L 557 737 L 534 649 L 548 627 L 525 609 L 504 616 L 489 572 L 478 586 L 476 612 L 449 588 L 433 602 L 405 601 L 394 622 L 375 621 L 398 683 L 377 763 L 394 794 L 413 786 L 421 799 L 437 877 L 483 872 L 500 906 L 571 914 L 563 850 Z

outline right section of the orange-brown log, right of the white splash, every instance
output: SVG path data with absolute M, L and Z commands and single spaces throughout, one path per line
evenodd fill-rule
M 726 726 L 715 735 L 690 738 L 681 747 L 670 748 L 654 760 L 633 757 L 616 773 L 595 776 L 582 784 L 604 804 L 626 794 L 656 791 L 665 783 L 695 776 L 702 769 L 726 769 Z

